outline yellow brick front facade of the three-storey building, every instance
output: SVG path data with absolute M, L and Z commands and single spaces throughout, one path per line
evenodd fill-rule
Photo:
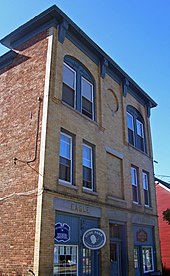
M 122 95 L 122 85 L 109 75 L 100 76 L 100 66 L 65 38 L 61 44 L 57 30 L 53 30 L 52 64 L 50 75 L 50 96 L 48 104 L 47 140 L 45 154 L 44 193 L 42 203 L 42 225 L 40 262 L 37 273 L 52 275 L 54 250 L 54 225 L 57 210 L 54 199 L 60 198 L 82 205 L 101 208 L 99 227 L 106 234 L 106 245 L 100 250 L 99 275 L 110 274 L 109 222 L 120 222 L 126 229 L 127 264 L 126 274 L 134 274 L 133 224 L 154 227 L 157 269 L 160 269 L 159 240 L 152 163 L 150 125 L 146 108 L 133 96 Z M 81 62 L 94 77 L 96 90 L 96 121 L 62 102 L 62 76 L 64 56 L 69 55 Z M 146 128 L 148 154 L 128 144 L 126 107 L 132 105 L 143 116 Z M 74 186 L 59 181 L 59 140 L 61 128 L 75 135 Z M 96 191 L 85 192 L 82 187 L 82 143 L 83 140 L 95 145 Z M 112 152 L 113 150 L 113 152 Z M 131 164 L 139 168 L 141 204 L 134 205 L 131 189 Z M 151 206 L 144 207 L 142 170 L 150 175 Z M 123 273 L 123 272 L 122 272 Z

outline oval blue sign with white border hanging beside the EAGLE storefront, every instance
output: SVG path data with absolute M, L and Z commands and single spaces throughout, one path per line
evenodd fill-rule
M 91 228 L 83 234 L 83 244 L 92 250 L 102 248 L 106 243 L 106 235 L 99 228 Z

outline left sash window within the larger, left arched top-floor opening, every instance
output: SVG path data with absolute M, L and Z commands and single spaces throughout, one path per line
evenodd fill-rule
M 62 100 L 75 107 L 76 72 L 67 64 L 63 65 L 63 93 Z

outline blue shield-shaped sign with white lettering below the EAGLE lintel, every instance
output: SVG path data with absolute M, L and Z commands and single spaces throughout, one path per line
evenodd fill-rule
M 70 226 L 66 223 L 58 222 L 55 224 L 55 240 L 67 242 L 70 240 Z

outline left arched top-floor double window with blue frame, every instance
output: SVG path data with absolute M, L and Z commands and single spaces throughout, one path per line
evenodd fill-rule
M 62 100 L 95 120 L 94 79 L 84 65 L 70 56 L 64 58 Z

